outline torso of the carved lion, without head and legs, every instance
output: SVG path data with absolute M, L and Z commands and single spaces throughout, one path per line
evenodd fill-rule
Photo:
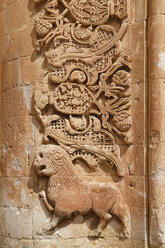
M 47 198 L 56 214 L 71 215 L 73 212 L 109 212 L 116 202 L 119 190 L 111 185 L 85 184 L 81 181 L 65 185 L 58 182 L 59 176 L 52 176 L 47 187 Z M 54 184 L 54 182 L 56 182 Z

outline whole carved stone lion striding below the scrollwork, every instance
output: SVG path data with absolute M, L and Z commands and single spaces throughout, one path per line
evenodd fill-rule
M 102 232 L 113 215 L 123 223 L 124 236 L 129 235 L 129 211 L 117 185 L 83 182 L 67 152 L 57 145 L 41 145 L 33 165 L 39 176 L 49 177 L 46 192 L 41 192 L 40 196 L 53 212 L 53 219 L 42 229 L 42 234 L 55 229 L 61 220 L 70 218 L 73 213 L 84 215 L 93 210 L 100 218 L 94 235 Z

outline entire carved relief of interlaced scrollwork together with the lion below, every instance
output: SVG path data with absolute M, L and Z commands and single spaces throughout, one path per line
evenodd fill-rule
M 40 196 L 54 211 L 41 233 L 73 212 L 92 209 L 100 218 L 95 235 L 116 215 L 128 236 L 129 213 L 117 184 L 86 186 L 74 169 L 81 158 L 92 170 L 106 164 L 116 168 L 118 177 L 125 176 L 115 136 L 131 144 L 130 57 L 121 49 L 127 0 L 34 2 L 43 5 L 35 18 L 35 48 L 44 54 L 48 72 L 34 96 L 44 134 L 34 168 L 49 177 Z M 78 194 L 79 204 L 74 202 Z M 104 197 L 107 204 L 100 206 Z

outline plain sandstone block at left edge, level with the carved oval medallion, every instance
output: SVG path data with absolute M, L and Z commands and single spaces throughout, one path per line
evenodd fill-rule
M 21 88 L 14 88 L 3 93 L 3 144 L 6 147 L 30 143 L 32 124 L 27 107 L 31 99 L 26 96 L 26 89 Z M 29 94 L 28 97 L 30 96 Z

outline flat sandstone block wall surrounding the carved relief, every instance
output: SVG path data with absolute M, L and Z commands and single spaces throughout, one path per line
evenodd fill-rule
M 1 84 L 1 167 L 0 248 L 144 248 L 147 245 L 146 166 L 146 3 L 130 0 L 130 26 L 122 41 L 132 56 L 133 145 L 121 147 L 128 166 L 125 181 L 131 209 L 131 237 L 119 239 L 115 221 L 100 238 L 87 238 L 82 217 L 41 237 L 37 231 L 50 221 L 50 214 L 38 198 L 40 185 L 31 165 L 41 144 L 41 126 L 33 109 L 35 83 L 44 76 L 43 57 L 34 51 L 32 0 L 2 0 L 2 84 Z M 44 183 L 44 182 L 43 182 Z

